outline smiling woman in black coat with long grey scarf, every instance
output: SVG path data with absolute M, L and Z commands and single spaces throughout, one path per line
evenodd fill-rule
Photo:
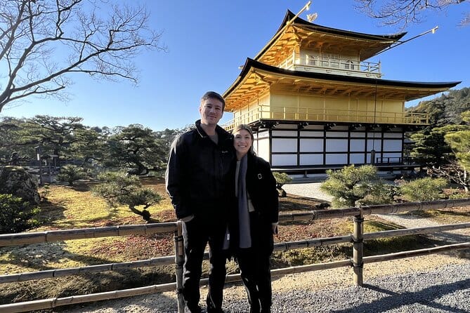
M 241 124 L 233 131 L 237 164 L 237 206 L 230 245 L 240 267 L 251 313 L 270 312 L 270 255 L 278 227 L 278 191 L 269 163 L 253 152 L 253 132 Z

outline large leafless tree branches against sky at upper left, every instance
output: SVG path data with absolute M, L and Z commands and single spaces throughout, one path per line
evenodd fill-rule
M 111 2 L 0 0 L 0 112 L 30 95 L 67 99 L 74 73 L 137 83 L 133 57 L 165 50 L 161 33 L 145 6 Z

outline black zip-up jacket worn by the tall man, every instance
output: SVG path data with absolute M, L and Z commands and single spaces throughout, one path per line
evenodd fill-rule
M 216 127 L 218 144 L 201 128 L 195 128 L 174 140 L 166 173 L 167 192 L 176 210 L 176 217 L 226 220 L 231 190 L 227 181 L 230 164 L 235 157 L 232 135 Z M 222 221 L 221 221 L 222 222 Z

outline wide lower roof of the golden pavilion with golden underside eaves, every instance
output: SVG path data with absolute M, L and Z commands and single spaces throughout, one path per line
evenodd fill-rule
M 260 95 L 268 93 L 270 86 L 287 93 L 307 95 L 374 97 L 377 99 L 415 100 L 448 91 L 460 81 L 416 82 L 393 81 L 358 76 L 325 74 L 282 69 L 247 58 L 242 72 L 223 94 L 226 111 L 247 105 Z

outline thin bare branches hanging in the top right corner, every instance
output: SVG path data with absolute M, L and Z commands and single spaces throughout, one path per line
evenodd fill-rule
M 467 0 L 356 0 L 360 11 L 372 18 L 379 18 L 383 25 L 402 25 L 422 21 L 422 14 L 429 10 L 445 10 L 453 4 L 462 4 Z M 377 3 L 379 2 L 379 4 Z M 460 25 L 468 25 L 470 13 L 466 13 Z

